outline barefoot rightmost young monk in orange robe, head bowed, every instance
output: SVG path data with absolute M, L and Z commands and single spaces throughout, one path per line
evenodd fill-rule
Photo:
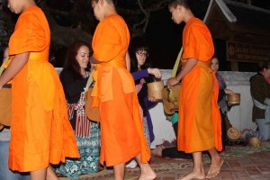
M 179 101 L 178 150 L 193 154 L 193 172 L 187 179 L 211 178 L 220 173 L 221 150 L 220 112 L 217 99 L 219 87 L 211 70 L 214 47 L 211 33 L 201 20 L 194 17 L 189 0 L 172 0 L 168 5 L 175 23 L 186 23 L 183 31 L 182 70 L 167 80 L 176 85 L 182 80 Z M 208 150 L 211 166 L 207 175 L 202 166 L 202 151 Z

